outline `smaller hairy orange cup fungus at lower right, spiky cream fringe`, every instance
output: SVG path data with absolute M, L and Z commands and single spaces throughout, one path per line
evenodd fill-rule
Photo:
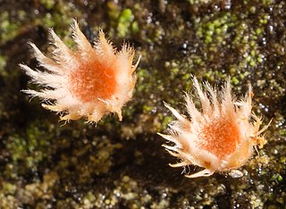
M 203 171 L 187 174 L 189 178 L 240 168 L 252 156 L 253 147 L 262 148 L 266 143 L 261 133 L 268 125 L 259 130 L 261 120 L 251 113 L 251 86 L 248 94 L 238 101 L 231 96 L 230 80 L 222 91 L 216 91 L 208 83 L 203 85 L 206 88 L 203 91 L 196 78 L 193 82 L 201 112 L 188 94 L 185 99 L 190 120 L 165 104 L 177 121 L 169 124 L 170 135 L 159 135 L 172 143 L 164 145 L 165 149 L 181 160 L 170 165 L 180 167 L 192 164 L 204 168 Z

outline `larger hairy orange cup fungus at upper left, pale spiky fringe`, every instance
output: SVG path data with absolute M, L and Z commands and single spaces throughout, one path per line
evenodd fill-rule
M 137 79 L 133 72 L 139 61 L 132 65 L 134 49 L 123 44 L 121 51 L 116 51 L 102 30 L 91 46 L 76 21 L 71 27 L 76 50 L 65 46 L 53 29 L 50 36 L 55 47 L 51 58 L 29 44 L 46 71 L 32 70 L 24 64 L 20 64 L 21 69 L 44 89 L 23 92 L 43 99 L 47 103 L 42 105 L 61 113 L 64 121 L 85 117 L 97 122 L 105 113 L 117 113 L 122 121 L 122 106 L 130 100 Z

